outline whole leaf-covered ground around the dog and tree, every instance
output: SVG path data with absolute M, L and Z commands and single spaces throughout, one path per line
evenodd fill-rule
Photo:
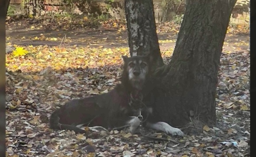
M 229 29 L 223 46 L 216 98 L 218 126 L 204 126 L 203 133 L 183 138 L 147 130 L 149 137 L 165 139 L 152 140 L 124 131 L 85 128 L 88 133 L 80 135 L 48 128 L 50 113 L 66 101 L 111 90 L 122 72 L 121 55 L 128 55 L 129 48 L 122 24 L 118 25 L 121 31 L 119 27 L 110 30 L 118 22 L 103 22 L 97 29 L 70 25 L 73 31 L 57 25 L 49 31 L 38 23 L 32 27 L 36 30 L 31 26 L 21 30 L 8 23 L 7 46 L 27 51 L 18 57 L 11 51 L 6 55 L 8 156 L 249 156 L 250 62 L 244 29 Z M 179 30 L 165 23 L 157 31 L 167 63 Z

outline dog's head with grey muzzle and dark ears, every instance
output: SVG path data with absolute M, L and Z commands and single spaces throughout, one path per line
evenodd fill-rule
M 150 56 L 122 56 L 124 65 L 122 77 L 128 81 L 133 89 L 142 90 L 142 87 L 149 76 Z

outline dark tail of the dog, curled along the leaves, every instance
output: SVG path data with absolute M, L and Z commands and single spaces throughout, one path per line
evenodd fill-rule
M 84 134 L 86 133 L 85 130 L 81 129 L 81 128 L 77 128 L 76 126 L 73 125 L 69 125 L 69 124 L 60 124 L 60 117 L 59 117 L 59 112 L 60 110 L 57 109 L 55 110 L 51 116 L 50 116 L 50 128 L 53 130 L 70 130 L 70 131 L 75 131 L 76 133 L 81 133 Z

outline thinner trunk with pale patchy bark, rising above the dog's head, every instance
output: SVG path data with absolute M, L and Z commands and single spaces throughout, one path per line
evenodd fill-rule
M 125 0 L 130 56 L 153 55 L 153 67 L 163 66 L 153 0 Z

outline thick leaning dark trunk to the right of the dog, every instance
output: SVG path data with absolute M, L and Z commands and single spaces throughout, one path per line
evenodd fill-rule
M 222 46 L 237 0 L 187 0 L 170 70 L 157 87 L 160 118 L 173 126 L 191 120 L 215 125 Z

